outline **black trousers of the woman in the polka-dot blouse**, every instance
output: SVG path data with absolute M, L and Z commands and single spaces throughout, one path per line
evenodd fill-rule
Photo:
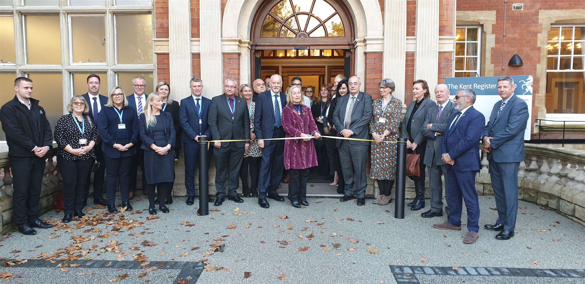
M 91 171 L 94 160 L 69 161 L 57 156 L 57 165 L 63 181 L 63 213 L 73 214 L 83 209 L 87 173 Z

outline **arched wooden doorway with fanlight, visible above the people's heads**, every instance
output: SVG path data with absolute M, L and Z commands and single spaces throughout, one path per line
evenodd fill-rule
M 353 22 L 341 0 L 267 0 L 256 11 L 250 30 L 252 74 L 290 78 L 303 86 L 352 74 L 355 39 Z

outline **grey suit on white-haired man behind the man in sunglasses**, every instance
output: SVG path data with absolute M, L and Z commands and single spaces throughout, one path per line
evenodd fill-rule
M 456 113 L 455 104 L 447 102 L 445 109 L 441 112 L 441 117 L 437 120 L 439 105 L 430 108 L 426 113 L 425 122 L 422 124 L 422 136 L 428 139 L 425 149 L 424 164 L 429 172 L 429 191 L 431 192 L 431 210 L 439 213 L 443 212 L 443 183 L 441 175 L 446 174 L 447 167 L 441 159 L 441 139 L 443 135 L 435 136 L 435 133 L 445 134 L 448 129 L 449 117 Z M 432 123 L 431 130 L 426 129 L 427 124 Z M 447 184 L 445 179 L 445 193 Z M 447 209 L 445 209 L 447 210 Z

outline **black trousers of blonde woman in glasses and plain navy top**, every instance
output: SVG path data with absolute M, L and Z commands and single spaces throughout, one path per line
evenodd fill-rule
M 108 196 L 108 204 L 116 204 L 116 186 L 118 180 L 120 181 L 120 197 L 122 202 L 129 202 L 130 197 L 130 164 L 132 164 L 133 157 L 110 158 L 104 155 L 106 161 L 106 195 Z

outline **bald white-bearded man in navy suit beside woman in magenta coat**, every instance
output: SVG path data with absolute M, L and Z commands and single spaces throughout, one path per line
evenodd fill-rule
M 280 92 L 283 78 L 278 74 L 270 77 L 270 89 L 258 95 L 256 112 L 254 112 L 254 134 L 258 146 L 262 148 L 262 163 L 258 177 L 258 204 L 270 207 L 266 198 L 284 201 L 276 192 L 284 171 L 284 140 L 266 140 L 284 138 L 283 108 L 287 105 L 287 95 Z

